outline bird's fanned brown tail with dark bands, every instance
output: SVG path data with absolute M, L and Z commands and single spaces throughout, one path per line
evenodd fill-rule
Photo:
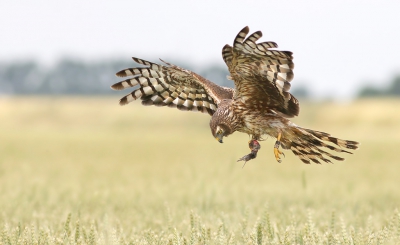
M 301 127 L 291 128 L 291 132 L 286 139 L 282 139 L 283 147 L 290 149 L 300 160 L 306 164 L 311 162 L 320 164 L 320 160 L 331 163 L 331 159 L 343 161 L 343 157 L 333 155 L 325 151 L 327 148 L 334 152 L 345 152 L 353 154 L 350 151 L 356 150 L 359 143 L 352 140 L 343 140 L 332 137 L 330 134 Z M 327 158 L 329 157 L 329 158 Z

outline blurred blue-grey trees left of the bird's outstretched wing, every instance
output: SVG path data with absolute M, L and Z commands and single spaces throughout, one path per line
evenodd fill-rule
M 65 59 L 45 68 L 37 62 L 0 64 L 1 94 L 105 94 L 115 72 L 128 63 Z

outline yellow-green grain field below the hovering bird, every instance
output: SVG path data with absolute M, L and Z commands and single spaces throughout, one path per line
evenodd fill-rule
M 0 98 L 0 244 L 400 244 L 400 101 L 302 103 L 361 142 L 305 165 L 209 116 L 114 97 Z

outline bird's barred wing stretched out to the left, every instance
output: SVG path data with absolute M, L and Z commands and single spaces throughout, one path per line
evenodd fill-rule
M 214 114 L 223 99 L 232 99 L 234 89 L 218 86 L 202 76 L 167 63 L 159 65 L 132 58 L 144 67 L 117 72 L 119 77 L 132 76 L 111 86 L 115 90 L 136 87 L 120 100 L 121 105 L 141 99 L 143 105 L 176 107 L 184 111 Z

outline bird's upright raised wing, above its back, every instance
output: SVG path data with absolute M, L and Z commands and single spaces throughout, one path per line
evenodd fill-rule
M 233 47 L 225 45 L 222 57 L 235 82 L 235 99 L 249 106 L 272 109 L 285 117 L 299 114 L 299 103 L 288 91 L 293 79 L 293 56 L 278 51 L 274 42 L 256 43 L 262 36 L 257 31 L 246 38 L 246 26 L 236 36 Z

